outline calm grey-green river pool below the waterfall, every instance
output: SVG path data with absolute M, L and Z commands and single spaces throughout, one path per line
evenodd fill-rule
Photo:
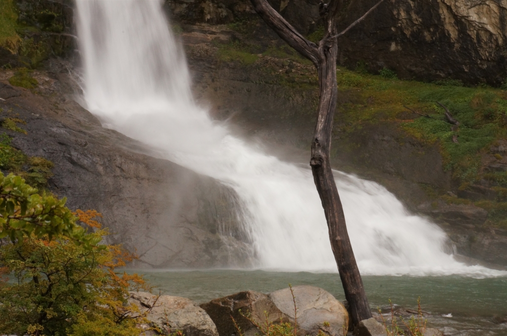
M 262 270 L 207 270 L 146 272 L 147 279 L 166 295 L 208 302 L 242 290 L 270 292 L 296 285 L 313 285 L 345 300 L 336 273 L 275 272 Z M 507 335 L 507 278 L 449 276 L 363 276 L 372 309 L 386 312 L 388 299 L 395 305 L 417 310 L 421 298 L 428 326 L 446 335 Z M 450 314 L 450 315 L 449 315 Z M 447 315 L 447 316 L 444 316 Z M 404 317 L 406 320 L 410 316 Z

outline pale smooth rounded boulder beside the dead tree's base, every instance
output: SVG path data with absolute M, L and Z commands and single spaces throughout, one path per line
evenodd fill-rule
M 348 329 L 348 313 L 342 303 L 322 288 L 293 287 L 298 326 L 304 334 L 316 335 L 319 330 L 338 336 Z M 272 292 L 269 298 L 291 322 L 294 322 L 294 301 L 290 288 Z M 325 323 L 325 326 L 324 326 Z

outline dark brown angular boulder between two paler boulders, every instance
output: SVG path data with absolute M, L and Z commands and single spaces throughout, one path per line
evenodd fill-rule
M 266 294 L 253 290 L 214 299 L 200 307 L 211 317 L 220 336 L 236 334 L 236 327 L 231 317 L 246 335 L 258 332 L 257 328 L 244 317 L 245 314 L 249 314 L 249 318 L 258 324 L 265 323 L 266 319 L 269 323 L 280 320 L 288 322 L 288 318 L 276 308 Z

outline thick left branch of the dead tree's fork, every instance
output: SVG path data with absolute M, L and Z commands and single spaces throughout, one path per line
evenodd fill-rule
M 250 0 L 253 9 L 261 18 L 280 36 L 289 46 L 298 53 L 318 64 L 318 48 L 313 42 L 307 40 L 296 28 L 287 22 L 277 11 L 271 7 L 267 0 Z

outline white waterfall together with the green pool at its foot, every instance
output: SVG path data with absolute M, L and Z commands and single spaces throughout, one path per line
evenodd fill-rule
M 104 127 L 233 188 L 238 220 L 252 242 L 252 264 L 277 271 L 147 276 L 167 293 L 200 302 L 245 289 L 272 291 L 289 282 L 317 285 L 343 298 L 308 164 L 284 162 L 248 145 L 195 103 L 183 48 L 161 4 L 77 1 L 83 104 Z M 507 334 L 495 317 L 507 314 L 506 272 L 456 261 L 445 233 L 409 213 L 382 186 L 341 172 L 335 179 L 373 307 L 388 298 L 413 307 L 421 296 L 424 309 L 436 316 L 432 323 L 450 334 Z M 453 317 L 441 316 L 449 313 Z

